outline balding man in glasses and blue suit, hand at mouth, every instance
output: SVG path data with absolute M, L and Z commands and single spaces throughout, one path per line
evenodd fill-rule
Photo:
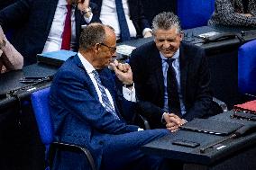
M 110 63 L 116 45 L 114 30 L 91 23 L 81 32 L 79 44 L 78 55 L 59 68 L 50 86 L 55 139 L 87 147 L 95 158 L 96 169 L 164 168 L 163 159 L 145 156 L 140 148 L 169 131 L 142 130 L 123 119 L 130 117 L 136 104 L 128 101 L 133 101 L 129 98 L 134 93 L 133 73 L 128 64 L 116 60 Z M 122 87 L 123 94 L 114 83 L 109 65 L 126 86 Z M 53 169 L 87 169 L 79 155 L 59 151 L 57 156 Z

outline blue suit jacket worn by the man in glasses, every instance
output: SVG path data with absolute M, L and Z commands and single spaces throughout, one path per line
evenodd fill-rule
M 69 58 L 54 76 L 50 86 L 50 114 L 54 122 L 55 139 L 87 147 L 96 160 L 99 169 L 105 135 L 123 134 L 137 131 L 139 127 L 127 125 L 121 114 L 133 110 L 133 103 L 125 101 L 123 94 L 116 92 L 114 78 L 109 69 L 100 73 L 103 85 L 114 99 L 115 110 L 121 120 L 114 119 L 110 112 L 99 102 L 96 88 L 78 56 Z M 122 95 L 122 96 L 121 96 Z M 126 107 L 123 108 L 123 105 Z M 55 159 L 55 168 L 76 169 L 84 167 L 84 159 L 75 154 L 59 153 Z M 53 168 L 54 169 L 54 168 Z

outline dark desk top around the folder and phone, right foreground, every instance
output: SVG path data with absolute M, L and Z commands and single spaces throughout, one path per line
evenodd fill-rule
M 231 114 L 232 112 L 225 112 L 210 119 L 236 121 L 243 124 L 256 123 L 255 121 L 233 120 L 230 118 Z M 170 133 L 161 139 L 152 141 L 151 143 L 143 146 L 142 150 L 147 154 L 178 159 L 187 163 L 210 165 L 224 157 L 232 156 L 234 152 L 242 150 L 243 148 L 250 148 L 252 146 L 252 148 L 255 148 L 256 133 L 254 132 L 238 139 L 230 139 L 222 143 L 222 145 L 217 145 L 214 148 L 207 149 L 205 153 L 200 153 L 200 148 L 204 148 L 209 144 L 214 143 L 216 140 L 224 138 L 225 137 L 212 134 L 178 130 L 177 132 Z M 172 141 L 175 139 L 186 139 L 189 141 L 194 141 L 199 143 L 200 146 L 197 148 L 187 148 L 172 145 Z

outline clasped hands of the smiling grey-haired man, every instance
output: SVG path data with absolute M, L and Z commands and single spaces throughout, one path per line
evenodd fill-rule
M 163 118 L 166 121 L 166 128 L 167 130 L 174 132 L 178 130 L 178 128 L 185 124 L 187 121 L 180 119 L 176 114 L 164 112 Z

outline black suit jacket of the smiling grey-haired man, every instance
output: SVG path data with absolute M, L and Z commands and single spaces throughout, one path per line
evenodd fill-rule
M 151 121 L 152 127 L 161 127 L 164 105 L 164 85 L 160 52 L 154 41 L 134 49 L 130 58 L 136 94 L 141 112 Z M 181 93 L 187 121 L 204 116 L 212 101 L 210 74 L 203 50 L 181 43 L 179 55 Z

